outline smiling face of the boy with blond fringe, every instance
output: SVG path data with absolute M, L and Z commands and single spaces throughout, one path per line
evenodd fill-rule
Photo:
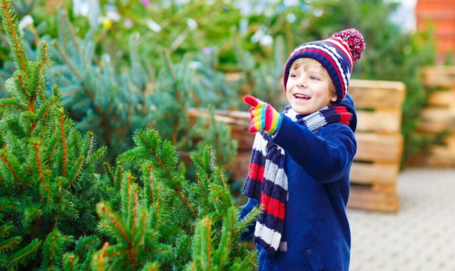
M 336 101 L 336 95 L 330 91 L 330 79 L 322 69 L 310 63 L 289 71 L 286 98 L 297 114 L 311 114 Z

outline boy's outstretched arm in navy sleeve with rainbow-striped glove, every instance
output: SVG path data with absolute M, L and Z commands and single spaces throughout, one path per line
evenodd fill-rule
M 345 124 L 331 125 L 323 137 L 279 114 L 270 104 L 251 95 L 243 100 L 249 109 L 249 132 L 264 130 L 271 142 L 288 153 L 313 179 L 328 183 L 349 170 L 357 149 L 354 133 Z

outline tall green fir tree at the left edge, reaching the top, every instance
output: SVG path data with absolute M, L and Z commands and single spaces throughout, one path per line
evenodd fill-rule
M 99 201 L 95 164 L 106 147 L 74 129 L 57 87 L 45 93 L 49 48 L 40 42 L 27 59 L 9 2 L 1 15 L 16 70 L 0 100 L 0 268 L 61 266 L 61 254 L 75 243 L 84 260 L 100 241 L 94 205 Z M 91 245 L 90 245 L 91 244 Z

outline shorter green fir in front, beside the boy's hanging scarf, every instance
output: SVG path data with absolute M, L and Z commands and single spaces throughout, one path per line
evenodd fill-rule
M 108 242 L 93 255 L 94 269 L 253 269 L 255 254 L 239 239 L 260 210 L 239 221 L 213 149 L 192 154 L 198 178 L 190 183 L 176 170 L 170 141 L 150 129 L 140 129 L 133 140 L 135 147 L 118 157 L 115 170 L 105 164 L 106 195 L 120 194 L 120 202 L 106 196 L 97 205 L 99 229 Z M 140 170 L 142 188 L 122 170 L 129 164 Z

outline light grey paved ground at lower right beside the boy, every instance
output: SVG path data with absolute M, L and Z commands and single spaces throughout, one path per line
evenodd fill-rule
M 455 271 L 455 169 L 407 169 L 400 209 L 348 209 L 351 271 Z

